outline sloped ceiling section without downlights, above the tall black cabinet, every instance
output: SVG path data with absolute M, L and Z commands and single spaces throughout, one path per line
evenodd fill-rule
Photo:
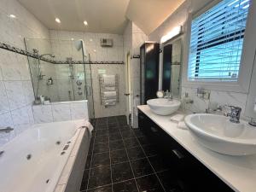
M 185 0 L 130 0 L 126 16 L 147 35 L 166 20 Z

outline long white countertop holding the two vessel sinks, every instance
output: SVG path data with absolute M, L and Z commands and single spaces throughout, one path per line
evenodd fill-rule
M 207 166 L 231 189 L 240 192 L 256 192 L 256 154 L 250 156 L 230 156 L 218 154 L 204 148 L 192 137 L 189 130 L 177 128 L 169 116 L 160 116 L 151 112 L 147 105 L 137 106 L 148 118 L 159 125 L 168 135 L 177 141 L 197 160 Z

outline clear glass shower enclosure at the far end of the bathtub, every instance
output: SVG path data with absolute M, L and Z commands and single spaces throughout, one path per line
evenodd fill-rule
M 38 55 L 28 57 L 35 100 L 50 102 L 88 100 L 94 118 L 90 55 L 82 40 L 25 38 L 26 50 Z

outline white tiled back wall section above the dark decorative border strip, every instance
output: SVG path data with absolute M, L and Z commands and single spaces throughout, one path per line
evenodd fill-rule
M 123 61 L 123 36 L 109 33 L 93 32 L 66 32 L 66 31 L 49 31 L 49 37 L 52 49 L 56 59 L 66 60 L 66 57 L 72 56 L 76 60 L 81 60 L 80 52 L 73 46 L 73 40 L 83 39 L 85 49 L 90 53 L 91 61 Z M 113 47 L 103 48 L 100 44 L 101 38 L 112 38 Z M 66 40 L 63 41 L 63 40 Z

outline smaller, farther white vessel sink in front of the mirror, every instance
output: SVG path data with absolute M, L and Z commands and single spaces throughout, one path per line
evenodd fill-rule
M 181 102 L 176 99 L 169 100 L 165 98 L 158 98 L 148 100 L 147 104 L 153 113 L 168 115 L 176 112 Z

